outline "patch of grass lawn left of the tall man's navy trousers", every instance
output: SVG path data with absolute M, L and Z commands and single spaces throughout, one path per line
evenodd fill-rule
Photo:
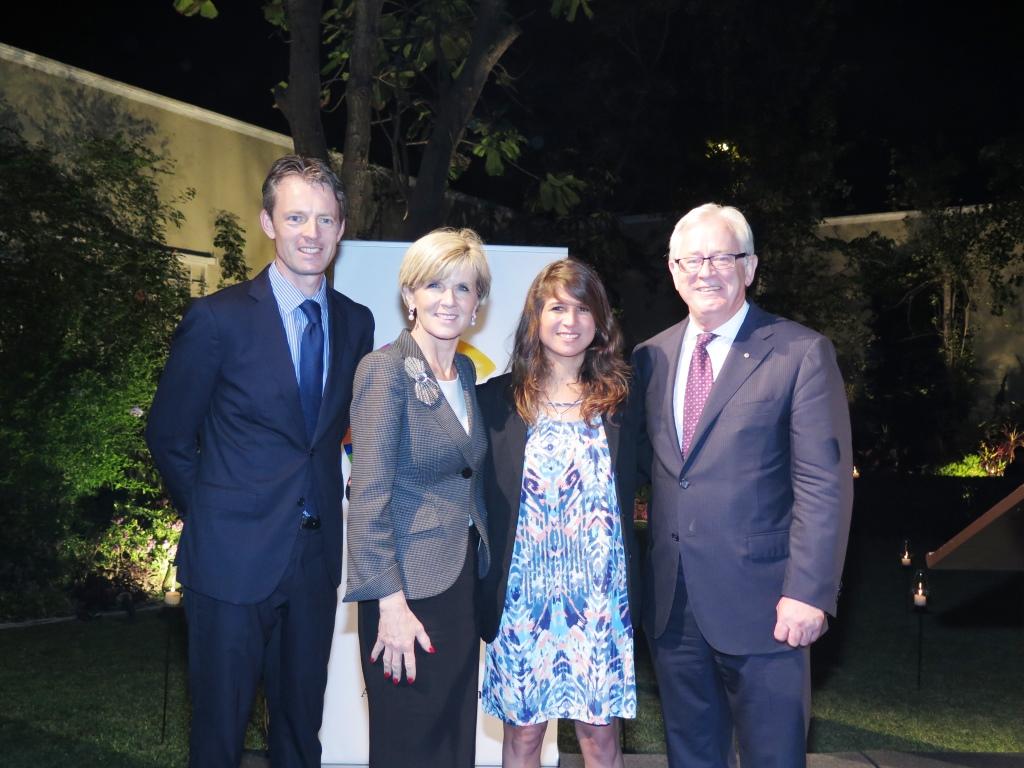
M 168 621 L 172 626 L 168 628 Z M 187 763 L 184 648 L 174 613 L 0 632 L 0 754 L 9 768 Z M 166 737 L 164 658 L 170 647 Z

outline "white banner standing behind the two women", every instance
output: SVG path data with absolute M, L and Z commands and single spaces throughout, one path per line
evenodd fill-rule
M 373 310 L 377 323 L 375 348 L 390 344 L 401 329 L 409 326 L 398 290 L 398 266 L 409 245 L 344 241 L 335 262 L 334 287 Z M 493 276 L 490 297 L 477 312 L 476 326 L 467 330 L 459 345 L 459 351 L 471 357 L 476 365 L 477 382 L 504 373 L 529 284 L 546 264 L 568 255 L 564 248 L 486 246 L 484 250 Z M 346 480 L 350 451 L 346 437 L 345 453 L 342 455 Z M 347 514 L 348 503 L 343 506 Z M 347 525 L 345 531 L 348 531 Z M 324 727 L 319 733 L 324 745 L 322 760 L 324 765 L 365 766 L 370 754 L 366 688 L 359 667 L 355 604 L 341 602 L 345 593 L 344 559 L 342 563 L 334 645 L 324 699 Z M 480 651 L 482 679 L 482 643 Z M 548 727 L 541 756 L 543 766 L 558 765 L 556 731 L 554 724 Z M 502 724 L 482 712 L 477 714 L 476 764 L 502 764 Z

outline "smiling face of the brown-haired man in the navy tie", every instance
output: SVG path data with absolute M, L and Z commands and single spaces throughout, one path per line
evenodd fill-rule
M 303 294 L 312 296 L 345 231 L 337 198 L 324 184 L 286 176 L 278 182 L 273 212 L 260 211 L 259 220 L 273 241 L 278 269 Z

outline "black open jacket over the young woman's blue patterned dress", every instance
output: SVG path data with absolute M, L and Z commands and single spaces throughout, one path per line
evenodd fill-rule
M 526 460 L 526 423 L 515 408 L 511 374 L 481 384 L 477 388 L 477 398 L 488 437 L 483 466 L 483 496 L 492 551 L 492 568 L 477 590 L 477 614 L 480 637 L 484 642 L 490 642 L 498 634 L 505 610 L 505 592 L 519 523 L 522 468 Z M 633 625 L 637 626 L 640 623 L 640 568 L 633 530 L 633 499 L 636 496 L 638 425 L 633 420 L 634 415 L 635 409 L 624 407 L 615 415 L 605 417 L 603 424 L 615 475 L 615 494 L 628 563 L 630 615 Z

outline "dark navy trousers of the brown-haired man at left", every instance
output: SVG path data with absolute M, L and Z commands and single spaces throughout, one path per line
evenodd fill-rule
M 337 602 L 319 530 L 299 530 L 281 584 L 262 602 L 236 605 L 185 591 L 190 768 L 238 768 L 261 676 L 270 764 L 318 768 Z

